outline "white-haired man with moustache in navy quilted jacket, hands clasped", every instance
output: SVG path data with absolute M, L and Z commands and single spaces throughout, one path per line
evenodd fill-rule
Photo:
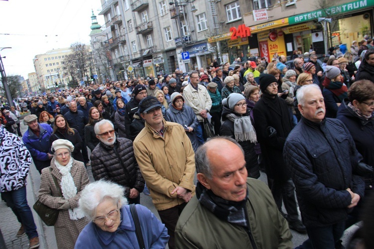
M 364 195 L 365 184 L 357 174 L 365 164 L 347 127 L 325 118 L 317 85 L 301 87 L 296 97 L 303 117 L 288 135 L 283 157 L 313 248 L 341 248 L 347 214 Z

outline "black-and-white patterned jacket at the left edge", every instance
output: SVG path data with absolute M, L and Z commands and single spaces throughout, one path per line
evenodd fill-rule
M 0 192 L 25 186 L 30 164 L 31 154 L 22 141 L 0 127 Z

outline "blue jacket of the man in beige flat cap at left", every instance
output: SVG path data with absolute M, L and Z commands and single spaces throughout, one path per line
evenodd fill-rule
M 48 157 L 50 150 L 49 137 L 52 134 L 52 128 L 49 124 L 39 124 L 39 137 L 37 137 L 31 128 L 28 128 L 22 136 L 26 148 L 30 151 L 36 169 L 41 172 L 45 167 L 49 167 L 51 160 Z

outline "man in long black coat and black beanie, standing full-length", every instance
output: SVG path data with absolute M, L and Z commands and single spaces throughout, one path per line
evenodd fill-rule
M 292 129 L 292 115 L 285 100 L 278 97 L 278 83 L 273 75 L 260 75 L 260 88 L 263 95 L 253 108 L 253 119 L 269 187 L 281 213 L 283 198 L 290 229 L 305 233 L 305 226 L 298 218 L 295 187 L 282 155 L 284 142 Z

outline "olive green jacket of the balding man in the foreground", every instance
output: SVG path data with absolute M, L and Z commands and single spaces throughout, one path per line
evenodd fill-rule
M 257 249 L 292 249 L 287 221 L 279 213 L 265 183 L 247 179 L 249 198 L 246 208 Z M 194 196 L 179 217 L 175 230 L 178 249 L 252 249 L 244 227 L 218 219 Z

